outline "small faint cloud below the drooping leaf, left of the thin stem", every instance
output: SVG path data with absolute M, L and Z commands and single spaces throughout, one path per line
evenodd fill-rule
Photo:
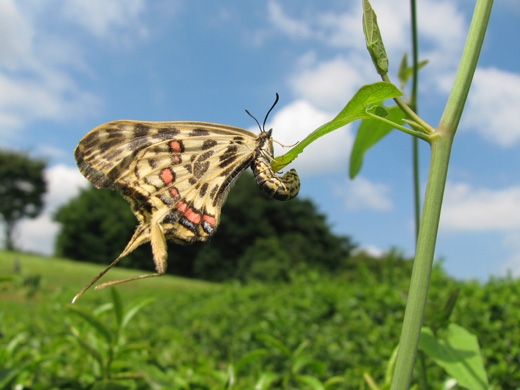
M 350 211 L 389 211 L 394 207 L 389 198 L 388 186 L 373 183 L 361 176 L 337 186 L 334 192 L 336 196 L 343 198 L 346 209 Z

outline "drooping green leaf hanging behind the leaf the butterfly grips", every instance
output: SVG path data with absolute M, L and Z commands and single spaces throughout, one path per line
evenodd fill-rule
M 386 112 L 388 113 L 386 119 L 394 123 L 401 124 L 405 117 L 404 112 L 398 106 L 386 107 Z M 349 176 L 351 179 L 355 178 L 361 170 L 366 151 L 392 129 L 391 125 L 372 118 L 364 119 L 361 122 L 350 154 Z

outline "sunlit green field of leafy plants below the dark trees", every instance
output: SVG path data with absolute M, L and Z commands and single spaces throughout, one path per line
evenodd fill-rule
M 102 269 L 0 252 L 0 388 L 367 389 L 363 375 L 381 383 L 399 339 L 409 264 L 246 286 L 162 276 L 70 305 Z M 139 274 L 116 267 L 103 281 Z M 479 337 L 493 388 L 520 388 L 520 283 L 437 268 L 430 312 L 455 288 L 452 321 Z M 426 364 L 440 388 L 446 373 Z

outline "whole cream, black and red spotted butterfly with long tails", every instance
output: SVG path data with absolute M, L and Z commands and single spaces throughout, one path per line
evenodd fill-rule
M 271 168 L 269 113 L 256 135 L 237 127 L 205 122 L 118 120 L 90 131 L 74 156 L 81 173 L 97 188 L 118 190 L 139 225 L 129 243 L 105 270 L 72 300 L 140 245 L 151 242 L 156 272 L 103 283 L 96 289 L 166 272 L 167 244 L 208 240 L 216 231 L 222 205 L 238 176 L 251 167 L 260 188 L 278 200 L 294 198 L 300 179 L 291 169 L 282 177 Z

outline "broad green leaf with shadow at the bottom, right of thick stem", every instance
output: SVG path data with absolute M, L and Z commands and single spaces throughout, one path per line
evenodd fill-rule
M 431 329 L 423 327 L 419 349 L 457 380 L 459 386 L 471 390 L 489 388 L 477 337 L 463 327 L 450 324 L 445 339 L 438 339 Z

